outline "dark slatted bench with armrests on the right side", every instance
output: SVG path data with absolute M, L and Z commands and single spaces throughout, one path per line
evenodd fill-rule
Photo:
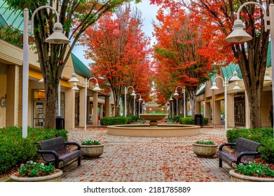
M 224 146 L 234 146 L 234 151 L 232 153 L 226 153 L 223 151 Z M 233 163 L 239 165 L 240 163 L 253 161 L 256 156 L 261 155 L 258 151 L 259 146 L 263 146 L 263 144 L 242 137 L 239 137 L 235 143 L 221 144 L 219 151 L 217 151 L 219 167 L 222 167 L 223 160 L 231 167 Z

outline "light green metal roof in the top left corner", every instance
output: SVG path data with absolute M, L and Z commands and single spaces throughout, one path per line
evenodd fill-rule
M 20 10 L 9 10 L 6 3 L 0 0 L 0 25 L 10 26 L 12 25 L 15 29 L 23 31 L 24 29 L 24 18 Z

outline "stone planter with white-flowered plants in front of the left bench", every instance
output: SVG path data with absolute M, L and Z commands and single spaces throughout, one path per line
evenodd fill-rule
M 31 160 L 22 164 L 19 171 L 11 175 L 11 179 L 18 182 L 60 182 L 62 174 L 62 170 L 55 169 L 51 163 L 45 165 Z

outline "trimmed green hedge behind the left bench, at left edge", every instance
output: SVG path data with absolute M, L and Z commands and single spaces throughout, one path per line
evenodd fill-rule
M 35 142 L 62 136 L 67 140 L 67 130 L 43 130 L 28 127 L 27 138 L 22 138 L 22 127 L 0 129 L 0 172 L 28 160 L 39 158 Z

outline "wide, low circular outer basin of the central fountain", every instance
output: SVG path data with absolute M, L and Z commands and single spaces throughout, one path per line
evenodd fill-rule
M 107 133 L 130 137 L 184 137 L 200 134 L 200 126 L 196 125 L 111 125 Z

